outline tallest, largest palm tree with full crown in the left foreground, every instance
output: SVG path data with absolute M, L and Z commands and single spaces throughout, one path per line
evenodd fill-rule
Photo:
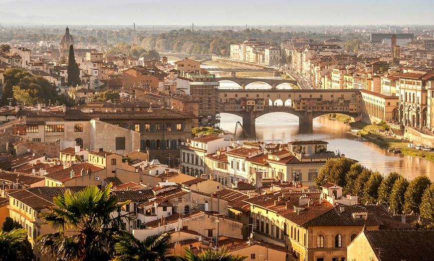
M 62 261 L 106 261 L 114 253 L 115 236 L 125 232 L 121 206 L 116 195 L 110 194 L 111 183 L 104 191 L 88 186 L 77 193 L 69 189 L 54 197 L 50 213 L 40 216 L 55 233 L 38 238 L 39 252 Z M 114 213 L 117 213 L 115 215 Z

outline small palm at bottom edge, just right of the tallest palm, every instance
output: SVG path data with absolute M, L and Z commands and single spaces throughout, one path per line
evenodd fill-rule
M 113 261 L 163 261 L 170 249 L 170 234 L 164 233 L 147 237 L 140 241 L 130 233 L 116 237 L 116 258 Z

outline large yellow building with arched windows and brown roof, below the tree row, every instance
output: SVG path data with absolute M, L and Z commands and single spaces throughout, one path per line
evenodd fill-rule
M 344 261 L 346 246 L 365 225 L 413 227 L 397 222 L 384 206 L 332 205 L 323 197 L 319 191 L 281 190 L 244 200 L 250 204 L 253 238 L 286 247 L 292 260 Z

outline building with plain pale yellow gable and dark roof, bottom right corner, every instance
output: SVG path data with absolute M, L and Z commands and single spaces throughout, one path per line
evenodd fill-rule
M 368 230 L 347 247 L 347 260 L 431 261 L 434 256 L 433 230 Z

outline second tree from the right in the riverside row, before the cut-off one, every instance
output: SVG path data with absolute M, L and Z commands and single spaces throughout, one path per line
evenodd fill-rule
M 427 176 L 418 176 L 410 182 L 404 194 L 404 213 L 420 213 L 419 206 L 422 203 L 422 195 L 430 185 L 431 180 Z

